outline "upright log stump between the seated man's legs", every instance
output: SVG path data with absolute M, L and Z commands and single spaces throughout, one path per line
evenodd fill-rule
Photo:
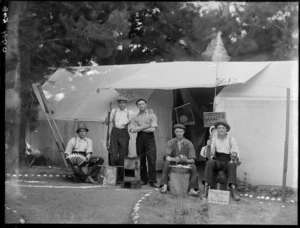
M 185 195 L 188 192 L 190 182 L 190 169 L 171 167 L 170 191 L 174 195 Z

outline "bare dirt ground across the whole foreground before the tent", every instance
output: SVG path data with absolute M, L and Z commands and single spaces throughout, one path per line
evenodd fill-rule
M 10 173 L 10 176 L 7 173 Z M 120 185 L 78 183 L 69 177 L 72 173 L 55 167 L 23 168 L 20 171 L 23 175 L 20 177 L 12 176 L 12 173 L 6 170 L 5 205 L 17 213 L 5 209 L 5 223 L 20 223 L 20 218 L 26 223 L 132 223 L 130 215 L 136 201 L 154 190 L 149 186 L 143 186 L 141 189 L 122 189 Z M 159 174 L 157 179 L 159 181 Z M 161 194 L 159 191 L 153 191 L 140 205 L 138 223 L 298 223 L 296 193 L 290 195 L 285 203 L 256 199 L 257 195 L 263 195 L 264 192 L 252 192 L 253 198 L 243 196 L 239 202 L 230 199 L 229 205 L 218 205 L 208 204 L 197 197 L 176 197 L 170 192 Z M 290 203 L 291 199 L 294 203 Z

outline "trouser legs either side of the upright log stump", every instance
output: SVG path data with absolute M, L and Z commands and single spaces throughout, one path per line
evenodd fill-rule
M 164 184 L 168 185 L 170 164 L 171 164 L 171 162 L 169 162 L 169 161 L 164 162 L 160 185 L 164 185 Z M 195 164 L 191 164 L 191 166 L 192 166 L 192 169 L 190 170 L 189 189 L 191 189 L 191 188 L 199 189 L 197 167 L 195 166 Z

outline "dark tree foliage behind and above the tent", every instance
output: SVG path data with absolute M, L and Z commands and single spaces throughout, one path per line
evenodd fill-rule
M 296 59 L 297 19 L 295 2 L 28 2 L 18 28 L 21 113 L 35 127 L 31 84 L 59 67 L 201 61 L 217 31 L 233 61 Z

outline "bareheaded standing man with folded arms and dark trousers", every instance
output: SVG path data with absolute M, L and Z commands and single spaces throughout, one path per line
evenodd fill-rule
M 136 138 L 136 153 L 141 158 L 141 183 L 158 188 L 156 184 L 156 144 L 154 132 L 157 128 L 157 117 L 152 110 L 147 109 L 147 100 L 136 101 L 140 112 L 132 118 L 132 133 L 138 133 Z M 148 171 L 146 165 L 148 161 Z

